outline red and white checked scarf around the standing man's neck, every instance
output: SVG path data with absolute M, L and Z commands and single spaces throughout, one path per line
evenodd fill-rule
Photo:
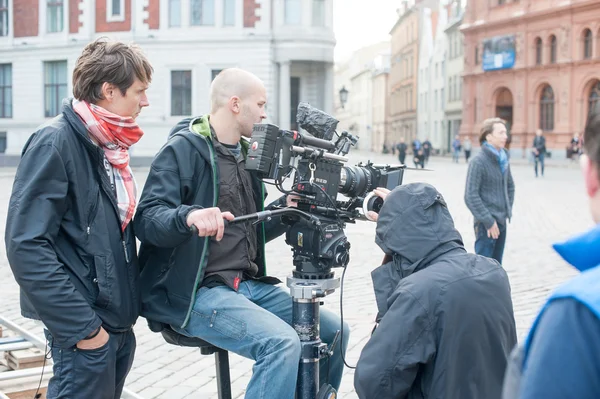
M 129 166 L 129 147 L 137 143 L 144 132 L 132 117 L 122 117 L 95 104 L 73 100 L 73 109 L 85 123 L 92 139 L 104 150 L 104 156 L 114 168 L 115 191 L 125 231 L 133 218 L 137 201 L 137 185 Z

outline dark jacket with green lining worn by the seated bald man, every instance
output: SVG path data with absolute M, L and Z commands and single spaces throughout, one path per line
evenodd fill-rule
M 241 143 L 245 154 L 247 143 Z M 256 176 L 252 186 L 256 209 L 262 211 L 264 186 Z M 134 218 L 141 242 L 142 316 L 153 331 L 164 324 L 185 328 L 189 321 L 206 272 L 210 239 L 194 235 L 186 219 L 194 209 L 217 206 L 218 199 L 219 168 L 208 119 L 184 119 L 152 161 Z M 276 203 L 284 204 L 285 197 Z M 266 276 L 265 243 L 286 228 L 279 218 L 256 225 L 256 278 Z

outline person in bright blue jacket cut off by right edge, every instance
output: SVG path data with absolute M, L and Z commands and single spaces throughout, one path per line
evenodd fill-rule
M 552 293 L 513 352 L 504 398 L 600 398 L 600 114 L 584 136 L 581 169 L 596 226 L 554 249 L 581 271 Z

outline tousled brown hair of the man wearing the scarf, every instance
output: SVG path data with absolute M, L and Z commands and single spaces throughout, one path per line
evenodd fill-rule
M 85 46 L 77 59 L 73 70 L 73 96 L 95 104 L 104 99 L 102 85 L 105 82 L 118 87 L 125 95 L 136 77 L 142 83 L 150 83 L 153 71 L 137 45 L 102 37 Z

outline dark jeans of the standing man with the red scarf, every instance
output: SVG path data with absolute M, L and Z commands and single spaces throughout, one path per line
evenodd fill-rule
M 47 399 L 121 397 L 135 353 L 133 330 L 109 333 L 106 345 L 92 350 L 76 346 L 60 349 L 52 345 L 52 335 L 47 330 L 45 333 L 54 360 L 54 376 L 48 383 Z

